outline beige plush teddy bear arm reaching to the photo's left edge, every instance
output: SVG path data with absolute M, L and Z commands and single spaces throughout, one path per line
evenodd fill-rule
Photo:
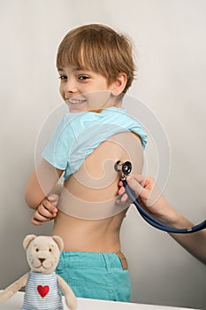
M 22 275 L 17 281 L 11 283 L 4 291 L 0 292 L 0 304 L 11 298 L 17 291 L 24 287 L 27 283 L 28 273 Z

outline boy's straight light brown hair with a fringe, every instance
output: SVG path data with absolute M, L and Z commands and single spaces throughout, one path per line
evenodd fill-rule
M 132 43 L 126 35 L 101 24 L 76 27 L 65 35 L 57 50 L 57 68 L 69 65 L 102 74 L 109 84 L 125 73 L 126 93 L 134 80 Z

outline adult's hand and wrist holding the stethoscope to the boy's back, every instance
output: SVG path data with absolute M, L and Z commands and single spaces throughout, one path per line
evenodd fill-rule
M 156 219 L 164 221 L 164 223 L 175 221 L 176 211 L 165 200 L 153 178 L 141 174 L 131 174 L 126 178 L 126 182 L 136 193 L 139 204 L 154 215 Z M 123 183 L 120 181 L 118 185 L 118 195 L 120 195 L 120 198 L 118 198 L 117 203 L 123 204 L 129 198 Z

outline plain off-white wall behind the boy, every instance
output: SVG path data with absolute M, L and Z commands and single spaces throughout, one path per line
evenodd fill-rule
M 164 194 L 192 221 L 205 219 L 205 14 L 203 0 L 0 2 L 1 288 L 27 271 L 24 236 L 50 234 L 50 224 L 30 224 L 24 190 L 38 132 L 61 103 L 55 58 L 72 27 L 99 22 L 133 37 L 139 71 L 129 94 L 156 113 L 172 152 Z M 206 268 L 170 236 L 131 209 L 122 239 L 134 301 L 206 309 Z

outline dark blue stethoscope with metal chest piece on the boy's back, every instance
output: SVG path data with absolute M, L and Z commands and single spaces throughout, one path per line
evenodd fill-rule
M 187 229 L 175 229 L 172 228 L 166 224 L 164 224 L 161 221 L 156 220 L 151 214 L 149 214 L 138 202 L 136 195 L 134 193 L 134 190 L 131 190 L 129 185 L 126 182 L 126 177 L 131 173 L 132 171 L 132 164 L 130 161 L 126 161 L 125 163 L 121 163 L 120 160 L 118 160 L 115 163 L 114 169 L 119 172 L 122 171 L 122 177 L 121 180 L 123 182 L 123 186 L 126 189 L 126 194 L 128 195 L 128 198 L 132 201 L 132 203 L 136 206 L 137 210 L 141 214 L 142 218 L 147 221 L 151 226 L 155 227 L 156 229 L 160 229 L 163 231 L 167 231 L 169 233 L 176 233 L 176 234 L 190 234 L 194 233 L 196 231 L 202 230 L 206 228 L 206 220 L 202 221 L 200 224 L 197 224 L 193 227 L 187 228 Z

